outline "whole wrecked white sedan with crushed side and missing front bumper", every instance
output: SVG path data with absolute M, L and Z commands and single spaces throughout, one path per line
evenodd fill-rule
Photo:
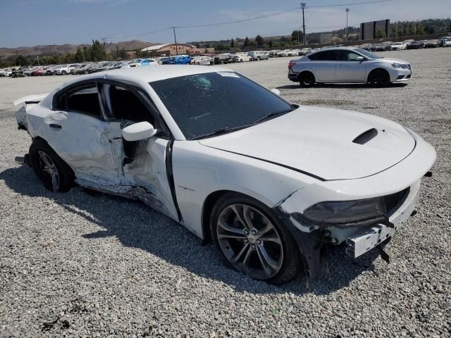
M 17 161 L 47 188 L 143 201 L 274 284 L 319 275 L 329 244 L 352 257 L 380 249 L 435 161 L 397 123 L 296 106 L 218 67 L 95 73 L 23 103 L 32 144 Z

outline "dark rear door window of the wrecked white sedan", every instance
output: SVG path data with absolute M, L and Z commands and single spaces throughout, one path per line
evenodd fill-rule
M 84 113 L 101 118 L 99 92 L 95 83 L 69 89 L 67 94 L 67 110 Z

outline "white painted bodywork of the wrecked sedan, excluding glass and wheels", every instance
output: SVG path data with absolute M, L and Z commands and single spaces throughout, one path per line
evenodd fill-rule
M 31 137 L 45 139 L 70 165 L 81 186 L 140 199 L 201 238 L 206 237 L 208 227 L 203 224 L 206 200 L 221 191 L 246 194 L 283 213 L 299 234 L 309 234 L 319 226 L 300 223 L 296 214 L 323 201 L 371 199 L 409 188 L 408 198 L 390 215 L 394 228 L 377 224 L 377 229 L 390 235 L 409 216 L 421 177 L 435 161 L 435 150 L 411 130 L 389 120 L 301 106 L 243 130 L 187 140 L 149 82 L 214 72 L 232 70 L 161 65 L 84 75 L 63 84 L 39 104 L 20 108 L 16 118 Z M 121 130 L 118 121 L 53 109 L 58 90 L 84 80 L 114 80 L 140 87 L 154 101 L 171 139 L 155 136 L 141 141 L 135 160 L 125 163 L 124 131 L 127 138 L 128 133 L 149 132 L 149 125 Z M 16 102 L 22 101 L 26 99 Z M 62 127 L 55 130 L 51 124 Z M 353 142 L 369 130 L 376 131 L 371 139 Z M 365 229 L 373 231 L 372 227 Z M 363 244 L 369 248 L 378 244 L 371 242 L 378 239 L 377 234 L 362 239 L 362 227 L 328 230 L 338 242 L 349 241 L 351 256 L 364 253 L 359 249 Z M 309 269 L 314 264 L 308 261 Z

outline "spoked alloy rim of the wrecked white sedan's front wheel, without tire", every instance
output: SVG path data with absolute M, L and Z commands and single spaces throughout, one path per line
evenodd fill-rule
M 220 213 L 218 243 L 234 268 L 258 280 L 274 277 L 283 265 L 283 242 L 266 215 L 247 204 L 231 204 Z

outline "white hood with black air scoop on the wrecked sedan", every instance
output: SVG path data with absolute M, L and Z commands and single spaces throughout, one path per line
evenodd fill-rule
M 204 146 L 283 165 L 320 180 L 380 173 L 409 156 L 415 140 L 404 127 L 373 115 L 301 106 Z

